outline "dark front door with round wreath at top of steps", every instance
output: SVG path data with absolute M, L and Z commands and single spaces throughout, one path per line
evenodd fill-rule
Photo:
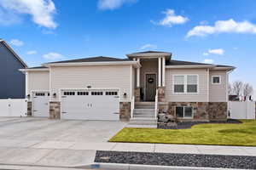
M 156 74 L 146 74 L 146 101 L 154 101 L 156 82 Z

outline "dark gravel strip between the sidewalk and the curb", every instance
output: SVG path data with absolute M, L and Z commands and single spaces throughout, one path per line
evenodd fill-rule
M 177 167 L 256 169 L 256 156 L 223 156 L 97 150 L 95 161 L 105 163 Z

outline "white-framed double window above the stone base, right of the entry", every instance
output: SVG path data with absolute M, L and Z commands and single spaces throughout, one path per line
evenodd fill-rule
M 197 75 L 175 75 L 173 80 L 174 93 L 197 93 L 198 76 Z

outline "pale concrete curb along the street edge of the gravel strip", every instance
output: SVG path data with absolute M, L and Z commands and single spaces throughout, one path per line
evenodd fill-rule
M 123 164 L 123 163 L 95 163 L 91 165 L 75 167 L 89 169 L 104 169 L 104 170 L 237 170 L 234 168 L 216 168 L 216 167 L 174 167 L 174 166 L 159 166 L 159 165 L 141 165 L 141 164 Z

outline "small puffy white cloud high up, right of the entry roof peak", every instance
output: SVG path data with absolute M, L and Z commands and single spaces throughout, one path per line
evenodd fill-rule
M 170 8 L 167 8 L 166 11 L 163 11 L 162 13 L 166 14 L 166 17 L 163 20 L 160 20 L 158 22 L 151 20 L 151 22 L 153 24 L 157 24 L 160 26 L 173 26 L 173 25 L 184 24 L 187 21 L 189 21 L 189 18 L 184 17 L 182 15 L 176 15 L 175 11 Z

